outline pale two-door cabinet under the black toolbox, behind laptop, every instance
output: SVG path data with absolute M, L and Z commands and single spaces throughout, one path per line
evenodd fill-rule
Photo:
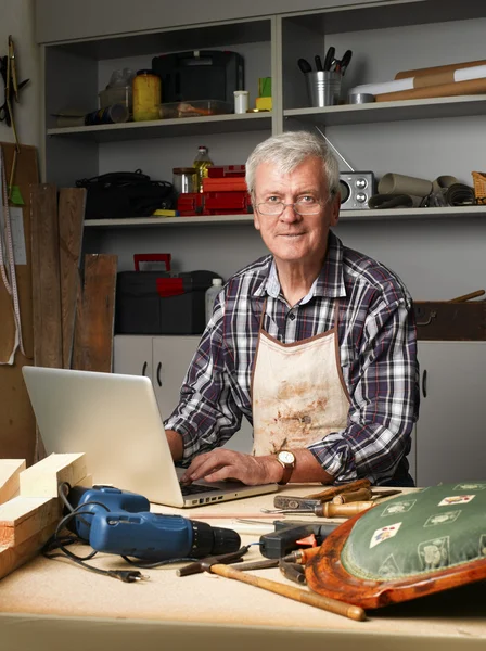
M 113 370 L 115 373 L 150 378 L 161 416 L 166 419 L 179 401 L 180 387 L 200 340 L 199 335 L 117 335 Z M 226 447 L 250 452 L 252 443 L 252 427 L 243 419 L 241 430 Z

